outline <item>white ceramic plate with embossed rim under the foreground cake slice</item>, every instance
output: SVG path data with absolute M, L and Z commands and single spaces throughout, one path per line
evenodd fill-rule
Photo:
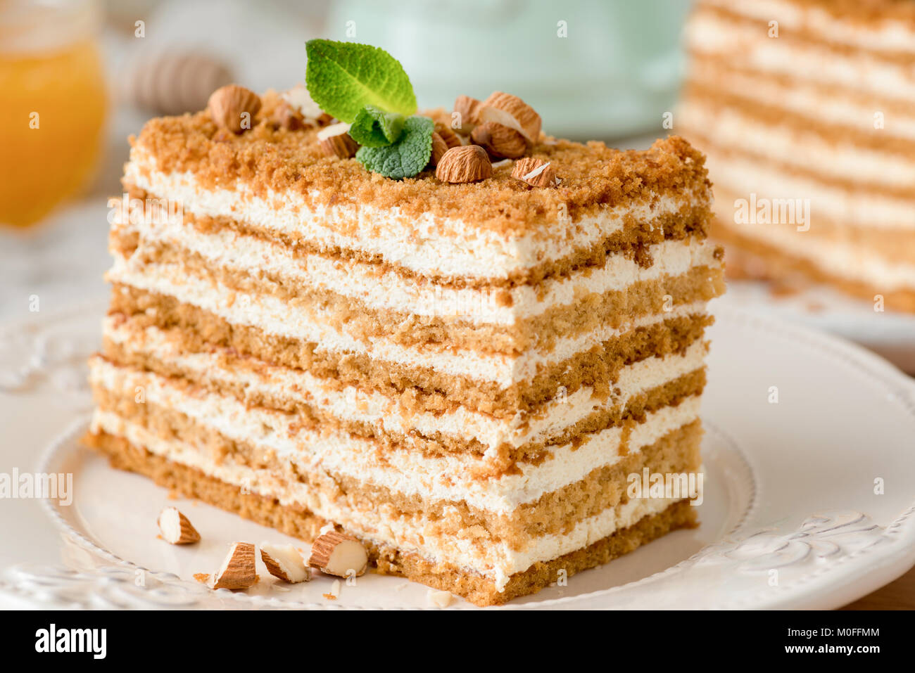
M 212 592 L 193 579 L 233 540 L 282 536 L 202 503 L 169 499 L 77 442 L 90 408 L 83 350 L 93 305 L 0 331 L 0 472 L 73 475 L 73 501 L 0 500 L 0 604 L 75 607 L 426 607 L 425 586 L 367 574 Z M 703 416 L 702 525 L 512 602 L 509 608 L 831 608 L 915 564 L 915 385 L 832 337 L 718 304 Z M 778 402 L 772 403 L 777 389 Z M 59 433 L 42 453 L 39 442 Z M 47 442 L 46 442 L 47 443 Z M 875 493 L 882 484 L 882 493 Z M 167 505 L 199 545 L 156 539 Z M 307 545 L 294 541 L 303 549 Z M 61 563 L 61 560 L 63 561 Z M 455 600 L 453 607 L 472 607 Z

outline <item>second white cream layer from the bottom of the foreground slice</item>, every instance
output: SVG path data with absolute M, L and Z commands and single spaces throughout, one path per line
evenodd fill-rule
M 255 450 L 275 454 L 281 464 L 296 465 L 301 473 L 346 475 L 361 484 L 382 486 L 393 493 L 423 497 L 430 502 L 467 502 L 498 514 L 511 514 L 524 503 L 583 479 L 591 471 L 621 460 L 620 445 L 638 452 L 699 414 L 699 397 L 687 398 L 675 407 L 647 414 L 634 426 L 628 440 L 621 427 L 587 435 L 584 443 L 554 447 L 540 465 L 522 464 L 520 474 L 474 479 L 470 470 L 476 459 L 467 454 L 426 456 L 417 451 L 384 451 L 384 461 L 371 440 L 349 433 L 302 429 L 296 416 L 264 408 L 249 409 L 234 397 L 203 391 L 193 394 L 169 379 L 136 369 L 118 368 L 100 358 L 92 361 L 93 386 L 113 390 L 134 399 L 143 390 L 145 403 L 185 413 L 194 422 L 212 428 Z M 285 500 L 285 504 L 290 501 Z

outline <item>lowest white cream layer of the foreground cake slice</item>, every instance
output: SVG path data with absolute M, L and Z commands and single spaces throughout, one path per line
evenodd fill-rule
M 337 502 L 322 494 L 307 491 L 304 486 L 297 486 L 300 493 L 290 493 L 285 480 L 277 479 L 264 470 L 232 464 L 216 465 L 194 446 L 180 441 L 163 441 L 144 428 L 125 422 L 112 413 L 96 411 L 92 427 L 94 432 L 104 431 L 123 436 L 150 453 L 195 467 L 204 474 L 231 485 L 244 486 L 254 493 L 275 497 L 282 504 L 306 504 L 319 517 L 335 521 L 364 538 L 478 572 L 496 582 L 500 591 L 511 575 L 527 570 L 533 563 L 551 561 L 587 547 L 619 529 L 635 524 L 640 518 L 662 512 L 676 502 L 664 498 L 631 499 L 625 505 L 605 509 L 594 517 L 578 522 L 568 533 L 533 538 L 521 550 L 512 550 L 505 543 L 479 537 L 479 531 L 472 529 L 442 533 L 429 519 L 422 516 L 397 516 L 392 507 L 384 504 L 353 511 L 348 507 L 340 507 Z

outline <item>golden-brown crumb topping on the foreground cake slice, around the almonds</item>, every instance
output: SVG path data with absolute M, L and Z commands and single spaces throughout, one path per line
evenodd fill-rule
M 244 134 L 219 129 L 207 112 L 158 117 L 147 122 L 136 149 L 155 157 L 164 172 L 191 172 L 207 188 L 245 183 L 257 196 L 268 190 L 291 191 L 308 204 L 371 204 L 400 208 L 406 216 L 431 213 L 456 218 L 503 234 L 553 230 L 567 217 L 575 222 L 630 200 L 664 193 L 711 189 L 705 156 L 679 136 L 657 140 L 645 151 L 617 150 L 604 143 L 573 143 L 544 134 L 530 156 L 550 162 L 561 179 L 558 187 L 536 189 L 511 177 L 511 165 L 493 168 L 480 182 L 453 185 L 438 180 L 434 169 L 393 180 L 370 173 L 355 159 L 325 155 L 318 129 L 290 131 L 272 121 L 282 99 L 275 91 L 262 96 L 263 107 Z M 426 112 L 447 123 L 444 110 Z

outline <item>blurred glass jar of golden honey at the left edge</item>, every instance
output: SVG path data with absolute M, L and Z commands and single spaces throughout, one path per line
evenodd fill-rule
M 92 176 L 106 96 L 91 11 L 0 5 L 0 223 L 38 221 Z

